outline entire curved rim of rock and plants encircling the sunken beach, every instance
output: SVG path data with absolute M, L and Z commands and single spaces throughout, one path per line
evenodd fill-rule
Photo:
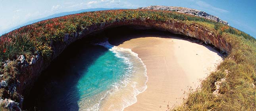
M 251 86 L 256 84 L 256 39 L 203 17 L 174 11 L 123 9 L 43 20 L 0 36 L 0 111 L 21 111 L 24 97 L 29 96 L 38 76 L 69 44 L 90 33 L 119 26 L 142 26 L 185 35 L 227 54 L 218 71 L 202 82 L 202 90 L 186 100 L 182 111 L 255 109 L 256 90 Z M 225 79 L 225 84 L 218 82 L 221 79 Z

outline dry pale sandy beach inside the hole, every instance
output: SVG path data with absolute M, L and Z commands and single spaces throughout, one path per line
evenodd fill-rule
M 222 61 L 210 46 L 175 36 L 142 36 L 118 45 L 139 54 L 148 76 L 146 91 L 124 111 L 166 111 L 168 104 L 170 108 L 180 104 L 189 88 L 196 89 Z

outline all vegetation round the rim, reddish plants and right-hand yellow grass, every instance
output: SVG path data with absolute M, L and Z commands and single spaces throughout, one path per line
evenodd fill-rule
M 202 88 L 191 92 L 183 105 L 173 110 L 256 110 L 256 40 L 250 35 L 212 20 L 171 11 L 153 10 L 111 10 L 68 15 L 40 21 L 6 33 L 0 37 L 0 61 L 13 60 L 21 54 L 26 58 L 40 54 L 45 60 L 52 59 L 53 44 L 63 42 L 65 34 L 80 32 L 92 25 L 113 23 L 123 20 L 175 21 L 196 24 L 210 30 L 216 37 L 223 37 L 231 44 L 229 52 L 218 70 L 202 82 Z M 30 60 L 27 60 L 30 61 Z M 0 74 L 8 83 L 15 82 L 19 74 L 17 62 L 12 61 L 7 67 L 0 63 Z M 225 70 L 229 73 L 226 74 Z M 220 96 L 213 96 L 214 83 L 221 78 Z M 171 82 L 171 81 L 170 81 Z M 6 94 L 7 88 L 0 89 L 2 98 L 17 100 L 18 94 Z

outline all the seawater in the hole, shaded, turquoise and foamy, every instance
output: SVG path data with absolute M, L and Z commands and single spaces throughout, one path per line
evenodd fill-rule
M 79 48 L 64 52 L 64 57 L 44 72 L 48 76 L 38 81 L 25 100 L 32 104 L 27 109 L 122 111 L 137 102 L 148 77 L 136 53 L 108 42 Z

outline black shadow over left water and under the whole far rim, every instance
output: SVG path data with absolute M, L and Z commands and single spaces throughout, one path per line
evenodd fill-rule
M 110 28 L 89 35 L 69 47 L 52 61 L 51 65 L 42 72 L 31 93 L 24 100 L 24 109 L 29 111 L 78 111 L 79 92 L 76 87 L 78 80 L 87 68 L 108 50 L 102 46 L 90 45 L 96 38 L 109 38 L 112 45 L 119 45 L 130 39 L 139 37 L 162 37 L 183 39 L 192 43 L 201 43 L 213 52 L 217 48 L 190 37 L 175 35 L 166 31 L 138 30 L 131 27 Z M 103 40 L 103 39 L 101 39 Z M 97 41 L 97 40 L 96 40 Z M 222 55 L 221 55 L 222 56 Z

